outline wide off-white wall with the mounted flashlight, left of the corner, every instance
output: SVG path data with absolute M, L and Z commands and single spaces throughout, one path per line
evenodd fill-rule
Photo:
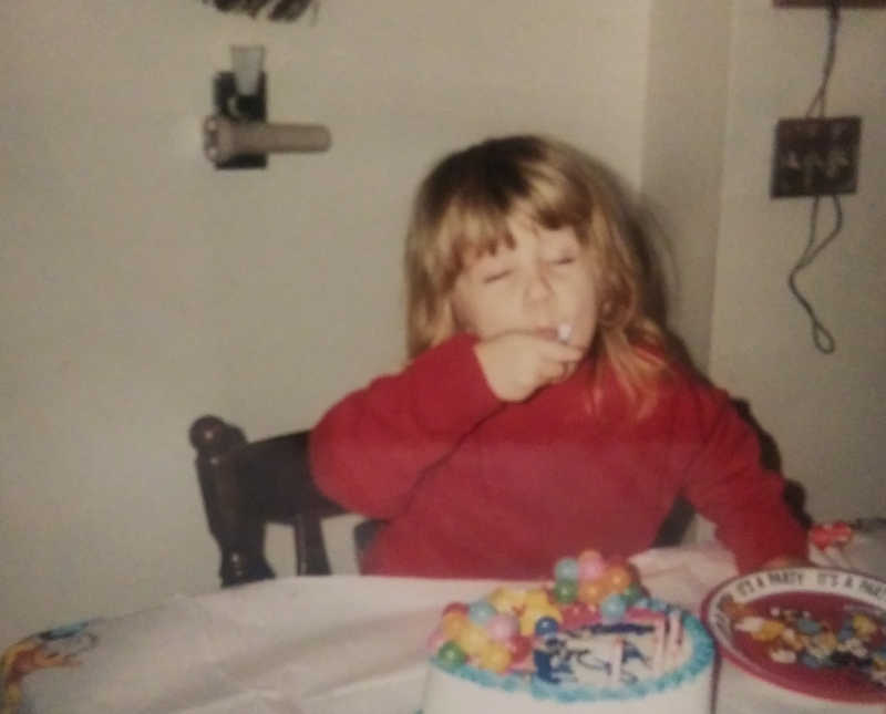
M 649 8 L 0 4 L 0 641 L 217 586 L 190 421 L 310 426 L 398 364 L 408 200 L 442 152 L 543 131 L 638 184 Z M 251 42 L 271 120 L 327 123 L 329 153 L 203 158 L 213 72 Z

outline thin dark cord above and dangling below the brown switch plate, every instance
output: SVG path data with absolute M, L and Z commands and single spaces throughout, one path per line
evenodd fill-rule
M 834 71 L 834 62 L 837 54 L 838 31 L 839 0 L 831 0 L 827 22 L 827 49 L 825 52 L 824 69 L 822 71 L 822 82 L 818 85 L 818 90 L 815 92 L 815 95 L 812 97 L 808 108 L 806 110 L 806 117 L 812 116 L 816 110 L 820 117 L 825 115 L 825 110 L 827 106 L 827 84 L 831 81 L 831 73 Z M 818 257 L 822 250 L 824 250 L 843 229 L 843 206 L 839 203 L 839 196 L 833 194 L 831 198 L 834 204 L 834 227 L 823 240 L 817 241 L 818 205 L 821 203 L 821 196 L 815 196 L 812 200 L 812 208 L 810 210 L 810 234 L 806 241 L 806 247 L 803 250 L 803 255 L 800 256 L 800 259 L 791 270 L 791 273 L 787 276 L 787 287 L 796 298 L 797 302 L 800 302 L 801 307 L 806 311 L 810 322 L 812 323 L 813 344 L 815 344 L 815 348 L 824 354 L 831 354 L 836 350 L 836 340 L 834 340 L 834 335 L 831 334 L 831 331 L 822 323 L 817 312 L 815 311 L 815 308 L 812 307 L 812 303 L 808 301 L 808 299 L 806 299 L 806 297 L 801 292 L 796 284 L 796 277 L 801 270 L 805 270 L 810 267 L 810 265 L 812 265 L 812 261 Z

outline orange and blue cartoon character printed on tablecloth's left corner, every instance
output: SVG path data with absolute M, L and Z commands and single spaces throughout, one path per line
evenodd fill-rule
M 99 638 L 89 622 L 55 628 L 33 634 L 7 648 L 2 660 L 0 714 L 16 714 L 21 704 L 21 681 L 38 670 L 76 666 L 79 654 L 92 650 Z

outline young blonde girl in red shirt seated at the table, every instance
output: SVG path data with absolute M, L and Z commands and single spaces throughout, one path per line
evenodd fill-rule
M 681 494 L 741 570 L 805 555 L 755 434 L 650 317 L 621 196 L 535 136 L 468 147 L 424 180 L 411 362 L 311 434 L 321 490 L 384 521 L 364 572 L 529 579 L 586 548 L 627 557 Z

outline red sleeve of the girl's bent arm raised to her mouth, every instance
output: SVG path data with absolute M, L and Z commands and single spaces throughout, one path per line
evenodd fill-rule
M 373 518 L 401 513 L 424 472 L 502 406 L 475 342 L 456 335 L 336 404 L 311 431 L 311 470 L 320 490 Z

